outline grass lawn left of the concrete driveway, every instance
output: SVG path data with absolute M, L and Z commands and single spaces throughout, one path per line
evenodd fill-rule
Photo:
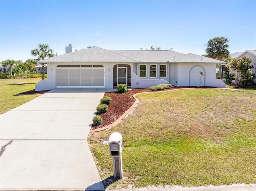
M 0 79 L 0 114 L 16 108 L 36 97 L 37 95 L 22 95 L 19 93 L 34 91 L 39 78 L 32 79 Z

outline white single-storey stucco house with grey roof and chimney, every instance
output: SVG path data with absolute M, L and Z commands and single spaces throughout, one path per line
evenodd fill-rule
M 216 79 L 216 64 L 224 62 L 192 53 L 168 50 L 106 50 L 91 47 L 40 60 L 47 63 L 47 80 L 36 85 L 36 91 L 55 88 L 106 88 L 119 84 L 129 88 L 148 88 L 163 83 L 174 86 L 198 86 L 200 71 L 203 86 L 226 87 Z

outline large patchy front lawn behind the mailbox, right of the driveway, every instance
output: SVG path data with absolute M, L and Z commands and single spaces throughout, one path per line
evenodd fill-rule
M 256 91 L 184 89 L 137 96 L 136 110 L 90 134 L 102 179 L 113 175 L 108 140 L 123 136 L 124 179 L 108 187 L 256 183 Z

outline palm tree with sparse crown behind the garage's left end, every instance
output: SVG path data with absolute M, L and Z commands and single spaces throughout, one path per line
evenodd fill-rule
M 32 56 L 38 56 L 38 59 L 44 60 L 46 57 L 54 57 L 53 49 L 48 44 L 39 44 L 39 49 L 31 50 Z M 42 79 L 44 80 L 44 63 L 42 63 Z

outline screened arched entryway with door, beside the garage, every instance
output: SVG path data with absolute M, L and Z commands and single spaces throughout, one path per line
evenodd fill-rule
M 131 88 L 132 73 L 131 67 L 128 64 L 116 64 L 113 67 L 113 87 L 117 87 L 119 84 L 125 84 L 128 88 Z

